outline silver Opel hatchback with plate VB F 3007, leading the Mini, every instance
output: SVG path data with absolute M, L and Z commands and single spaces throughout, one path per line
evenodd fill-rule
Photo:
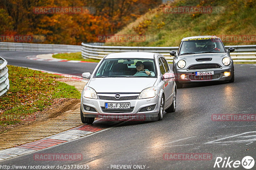
M 100 60 L 81 95 L 81 120 L 95 117 L 145 117 L 162 120 L 164 110 L 176 109 L 173 71 L 159 53 L 111 53 Z

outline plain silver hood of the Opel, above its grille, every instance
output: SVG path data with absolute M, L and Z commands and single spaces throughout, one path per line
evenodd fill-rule
M 157 78 L 147 77 L 109 77 L 92 78 L 87 86 L 96 93 L 140 93 L 143 89 L 154 86 Z

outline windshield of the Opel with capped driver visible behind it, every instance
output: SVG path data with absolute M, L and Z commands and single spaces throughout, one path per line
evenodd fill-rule
M 153 59 L 105 59 L 93 77 L 156 77 Z

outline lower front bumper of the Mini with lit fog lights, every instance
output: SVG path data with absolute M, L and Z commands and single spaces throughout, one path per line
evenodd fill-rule
M 198 71 L 214 71 L 213 75 L 196 75 Z M 230 72 L 229 76 L 225 76 L 224 72 Z M 180 69 L 175 70 L 175 80 L 179 83 L 188 82 L 205 82 L 205 81 L 229 81 L 233 75 L 233 66 L 213 68 L 213 69 L 202 69 L 202 70 L 188 70 Z M 185 78 L 181 78 L 180 75 L 185 74 Z

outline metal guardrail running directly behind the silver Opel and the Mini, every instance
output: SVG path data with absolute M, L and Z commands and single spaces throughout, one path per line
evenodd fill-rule
M 230 53 L 231 58 L 235 62 L 256 62 L 256 45 L 246 46 L 225 46 L 226 49 L 229 47 L 235 48 L 235 53 Z M 82 56 L 83 58 L 102 59 L 109 53 L 116 52 L 154 52 L 161 53 L 167 59 L 168 62 L 172 62 L 173 57 L 170 56 L 171 51 L 178 51 L 178 46 L 171 47 L 134 47 L 134 46 L 100 46 L 93 44 L 82 43 Z M 254 60 L 245 60 L 254 59 Z

